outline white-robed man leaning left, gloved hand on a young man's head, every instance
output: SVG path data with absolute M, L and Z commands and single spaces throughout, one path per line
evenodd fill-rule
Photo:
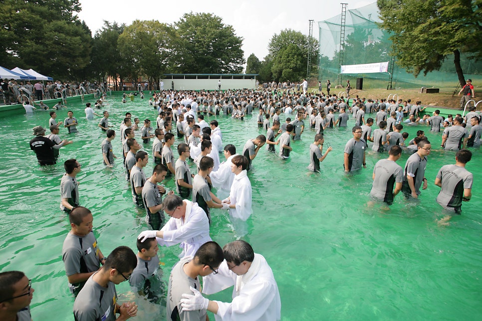
M 201 245 L 212 241 L 209 236 L 209 220 L 205 211 L 190 200 L 183 200 L 170 194 L 164 198 L 164 211 L 171 216 L 160 231 L 143 231 L 138 239 L 156 237 L 159 245 L 172 246 L 179 244 L 183 250 L 179 258 L 194 256 Z

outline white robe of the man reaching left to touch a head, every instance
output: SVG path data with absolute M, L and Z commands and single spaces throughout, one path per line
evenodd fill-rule
M 179 258 L 194 256 L 196 251 L 206 242 L 212 241 L 209 236 L 209 220 L 204 210 L 185 199 L 186 216 L 182 218 L 171 217 L 161 229 L 164 232 L 163 238 L 157 238 L 160 245 L 172 246 L 179 244 L 183 252 Z

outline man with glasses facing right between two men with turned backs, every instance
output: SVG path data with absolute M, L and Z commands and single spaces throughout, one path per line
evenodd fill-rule
M 427 189 L 427 178 L 425 178 L 425 168 L 427 167 L 427 156 L 430 155 L 432 145 L 426 139 L 421 140 L 417 145 L 417 153 L 410 156 L 405 163 L 404 180 L 402 192 L 405 198 L 410 196 L 418 198 L 420 186 Z

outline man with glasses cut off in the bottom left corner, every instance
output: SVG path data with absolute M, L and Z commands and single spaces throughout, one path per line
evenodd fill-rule
M 0 320 L 31 321 L 32 280 L 20 271 L 0 273 Z

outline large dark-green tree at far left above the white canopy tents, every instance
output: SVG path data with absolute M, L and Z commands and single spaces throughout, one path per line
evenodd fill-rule
M 71 78 L 90 62 L 90 30 L 78 11 L 78 0 L 2 1 L 1 61 Z

